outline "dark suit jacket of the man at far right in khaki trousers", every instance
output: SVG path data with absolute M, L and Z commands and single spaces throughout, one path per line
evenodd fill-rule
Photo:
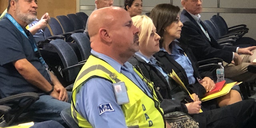
M 236 52 L 237 47 L 221 46 L 209 33 L 211 41 L 208 40 L 196 20 L 186 10 L 181 12 L 180 20 L 184 25 L 182 27 L 180 43 L 188 45 L 198 61 L 209 58 L 222 58 L 225 62 L 231 63 L 232 52 Z M 200 23 L 208 31 L 202 21 Z

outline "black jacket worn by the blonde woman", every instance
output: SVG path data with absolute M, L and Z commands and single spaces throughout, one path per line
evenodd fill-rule
M 172 80 L 169 80 L 172 83 L 169 86 L 166 78 L 158 69 L 136 55 L 132 56 L 128 62 L 135 66 L 147 80 L 154 83 L 154 89 L 158 90 L 163 98 L 162 102 L 160 102 L 160 107 L 164 110 L 164 114 L 174 111 L 188 113 L 187 107 L 184 104 L 186 103 L 184 99 L 188 97 L 188 93 L 183 88 L 176 86 L 177 84 L 174 84 Z M 175 100 L 173 100 L 174 97 Z

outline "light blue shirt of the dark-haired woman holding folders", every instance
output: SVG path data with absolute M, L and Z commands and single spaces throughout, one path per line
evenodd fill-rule
M 186 75 L 188 76 L 188 82 L 189 84 L 194 84 L 196 82 L 196 79 L 194 78 L 194 69 L 192 67 L 192 63 L 189 60 L 188 56 L 184 53 L 182 48 L 176 44 L 176 42 L 172 42 L 172 58 L 184 68 Z M 160 48 L 160 50 L 165 51 L 164 48 Z

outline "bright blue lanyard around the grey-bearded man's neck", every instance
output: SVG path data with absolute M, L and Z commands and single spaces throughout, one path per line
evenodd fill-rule
M 14 24 L 14 26 L 15 26 L 26 38 L 28 38 L 26 32 L 22 29 L 22 27 L 20 26 L 20 24 L 18 24 L 18 22 L 17 22 L 16 20 L 14 20 L 14 18 L 13 18 L 10 14 L 6 13 L 5 16 L 12 22 L 12 24 Z M 29 38 L 28 38 L 28 40 L 29 40 L 29 42 L 30 42 L 30 44 L 31 44 L 31 46 L 32 46 L 32 48 L 33 48 L 33 50 L 34 50 L 34 52 L 38 52 L 38 49 L 37 49 L 36 44 L 34 43 L 34 41 L 31 40 L 31 39 L 29 39 Z M 38 57 L 38 59 L 40 60 L 41 64 L 43 64 L 43 65 L 48 69 L 48 65 L 45 63 L 45 61 L 44 61 L 44 59 L 42 58 L 41 55 Z

